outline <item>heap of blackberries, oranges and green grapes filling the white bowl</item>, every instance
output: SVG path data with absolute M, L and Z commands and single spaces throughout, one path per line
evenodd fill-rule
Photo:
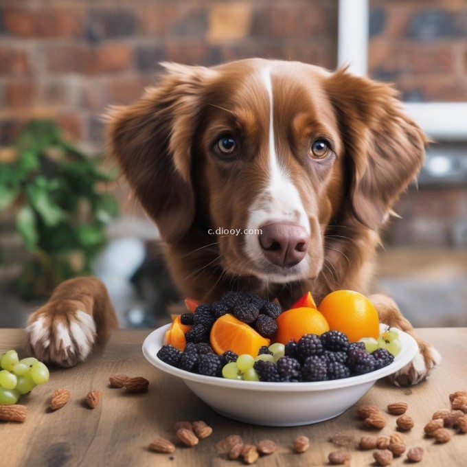
M 374 306 L 352 291 L 333 292 L 319 307 L 308 293 L 284 312 L 242 292 L 214 304 L 186 303 L 189 312 L 174 317 L 157 356 L 187 372 L 250 381 L 334 380 L 383 368 L 400 351 L 397 332 L 380 335 Z

